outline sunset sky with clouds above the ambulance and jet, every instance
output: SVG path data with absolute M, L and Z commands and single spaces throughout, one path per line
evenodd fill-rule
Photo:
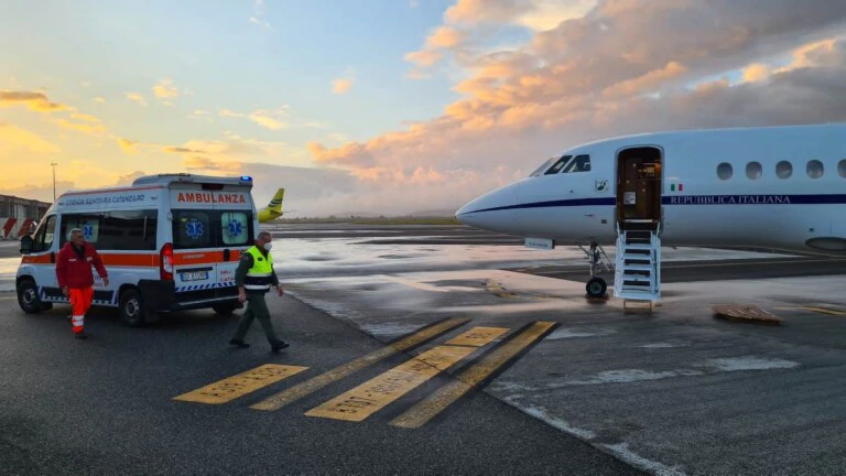
M 4 0 L 0 194 L 454 210 L 581 142 L 846 121 L 843 0 Z

